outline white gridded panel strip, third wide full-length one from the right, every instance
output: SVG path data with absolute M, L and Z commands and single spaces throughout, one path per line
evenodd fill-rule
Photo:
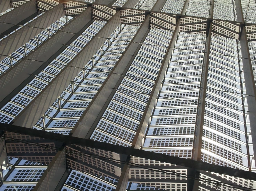
M 92 134 L 92 140 L 104 136 L 101 138 L 104 142 L 131 146 L 172 34 L 167 30 L 150 30 Z M 140 93 L 144 94 L 144 99 L 138 95 Z

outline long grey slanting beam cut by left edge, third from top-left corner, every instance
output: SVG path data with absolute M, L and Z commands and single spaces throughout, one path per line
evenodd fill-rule
M 6 73 L 2 74 L 0 76 L 0 92 L 2 92 L 0 94 L 0 108 L 34 78 L 30 74 L 36 72 L 36 75 L 41 72 L 48 65 L 48 63 L 44 62 L 51 62 L 53 60 L 51 59 L 52 57 L 55 58 L 56 54 L 61 53 L 67 48 L 63 44 L 69 44 L 69 41 L 73 41 L 79 36 L 79 34 L 73 33 L 82 33 L 91 23 L 91 7 L 88 7 L 77 18 L 70 21 L 70 23 L 54 34 L 53 37 L 29 54 L 27 58 L 24 58 L 7 70 Z

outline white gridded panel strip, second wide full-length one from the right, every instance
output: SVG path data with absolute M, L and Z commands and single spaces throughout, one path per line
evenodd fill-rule
M 205 35 L 179 34 L 144 150 L 191 158 L 204 46 Z

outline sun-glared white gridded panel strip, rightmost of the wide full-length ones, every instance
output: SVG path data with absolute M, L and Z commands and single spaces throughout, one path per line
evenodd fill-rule
M 248 169 L 239 44 L 212 34 L 208 69 L 202 160 Z M 236 138 L 236 139 L 233 139 Z

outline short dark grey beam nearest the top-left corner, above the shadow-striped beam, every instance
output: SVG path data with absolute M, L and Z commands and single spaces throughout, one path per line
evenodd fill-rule
M 0 1 L 1 5 L 2 5 L 2 1 Z M 10 4 L 10 1 L 9 1 L 9 4 Z M 0 11 L 0 13 L 1 12 L 2 11 Z M 37 12 L 36 1 L 30 0 L 27 3 L 24 3 L 23 5 L 17 7 L 16 9 L 6 14 L 3 14 L 0 17 L 0 34 L 10 29 L 11 27 L 14 27 L 14 24 L 18 24 L 19 22 L 23 21 L 29 16 L 32 16 L 36 12 Z M 7 23 L 10 23 L 10 24 L 7 24 Z

